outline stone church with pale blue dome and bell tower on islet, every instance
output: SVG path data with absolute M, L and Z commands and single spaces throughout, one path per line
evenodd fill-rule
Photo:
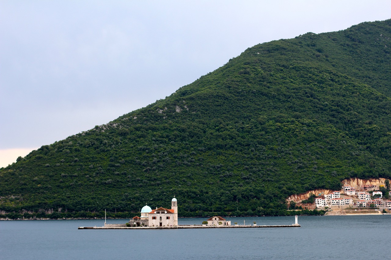
M 174 198 L 171 200 L 171 208 L 156 208 L 145 205 L 140 212 L 140 217 L 136 216 L 130 219 L 130 226 L 178 226 L 178 201 Z

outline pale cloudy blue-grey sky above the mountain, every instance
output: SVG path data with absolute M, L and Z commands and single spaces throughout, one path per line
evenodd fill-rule
M 389 0 L 0 0 L 0 167 L 164 99 L 258 43 L 390 10 Z

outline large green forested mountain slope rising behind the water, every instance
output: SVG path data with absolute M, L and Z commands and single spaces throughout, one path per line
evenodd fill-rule
M 387 20 L 248 48 L 0 169 L 0 210 L 129 217 L 176 195 L 182 216 L 284 215 L 291 194 L 390 178 L 390 37 Z

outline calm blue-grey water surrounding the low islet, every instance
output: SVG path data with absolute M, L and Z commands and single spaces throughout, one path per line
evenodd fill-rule
M 294 223 L 294 217 L 227 220 Z M 389 248 L 391 215 L 299 216 L 298 222 L 300 228 L 78 230 L 104 220 L 0 221 L 0 259 L 385 259 Z

